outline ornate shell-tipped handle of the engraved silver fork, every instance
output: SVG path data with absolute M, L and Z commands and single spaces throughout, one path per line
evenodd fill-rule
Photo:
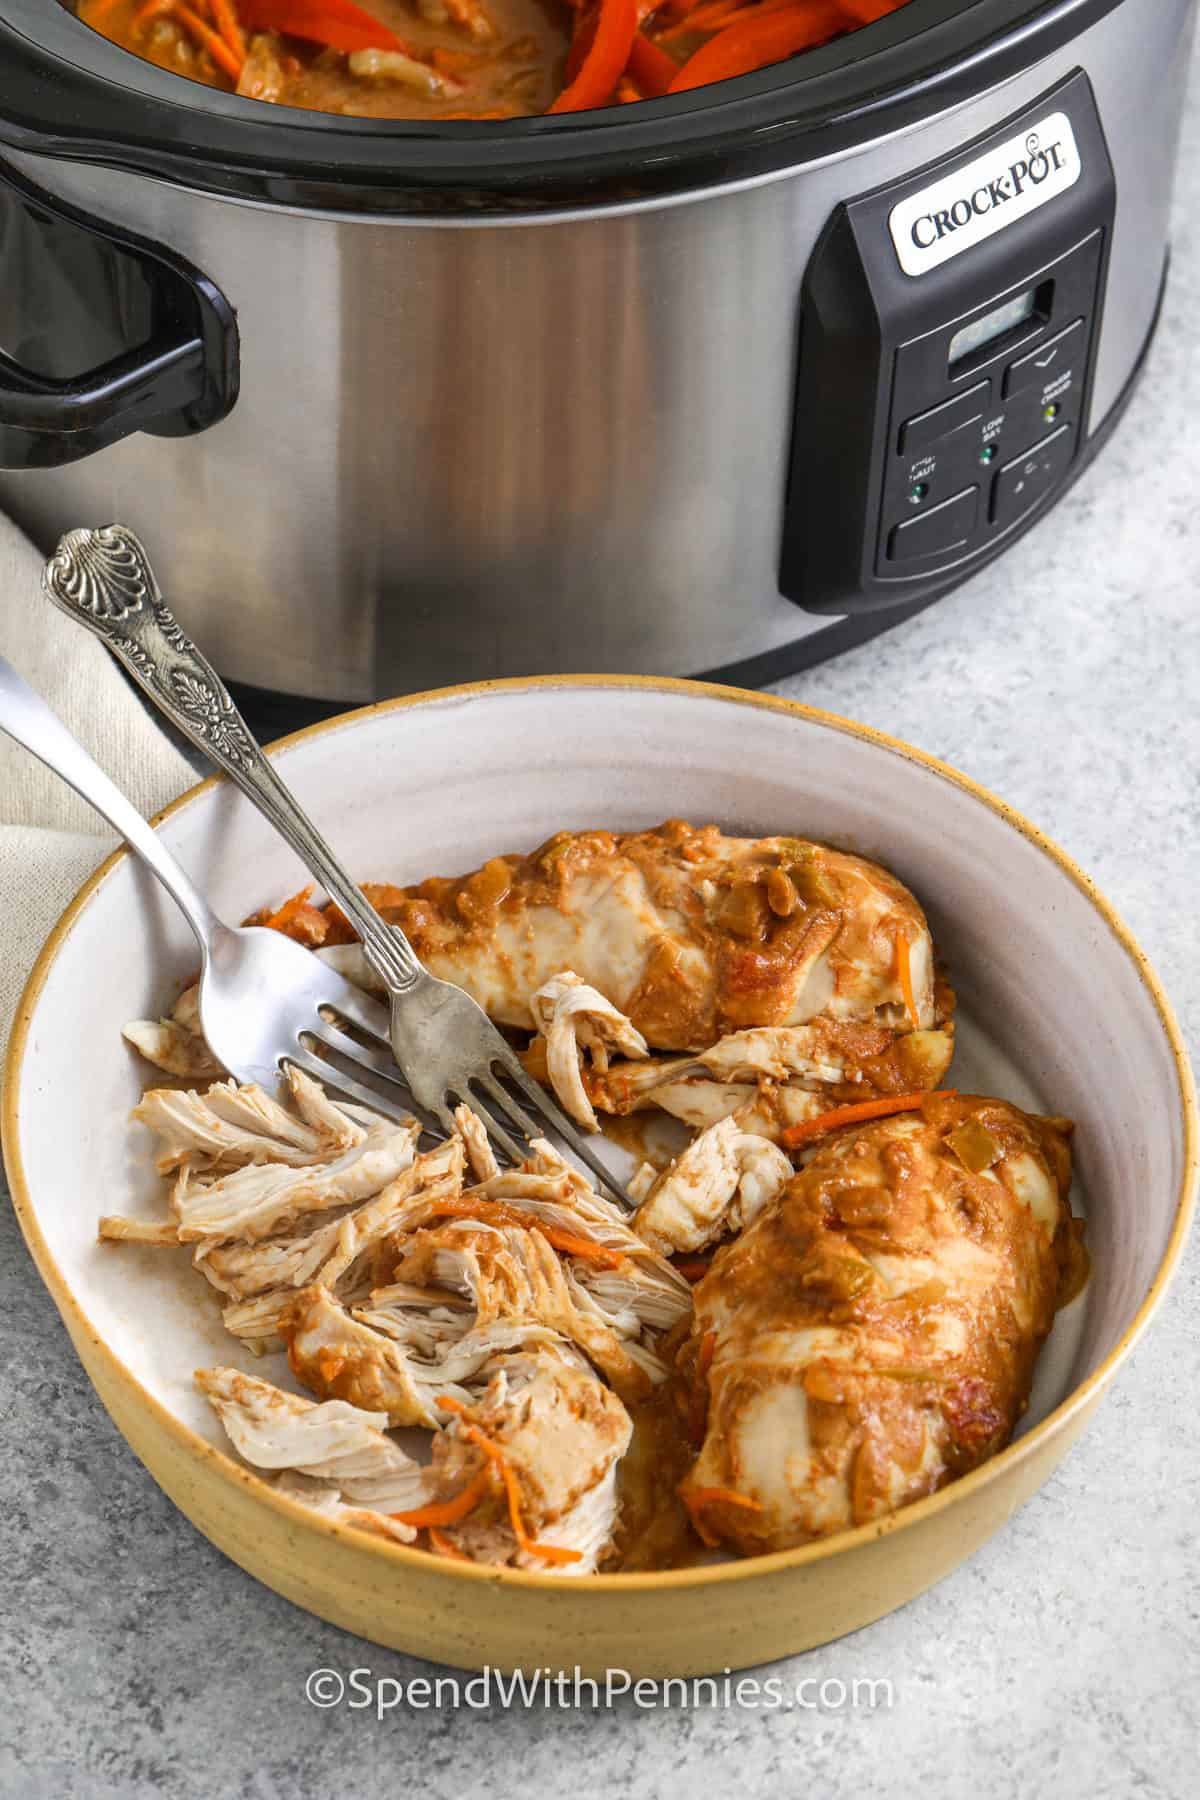
M 155 706 L 225 770 L 354 922 L 369 961 L 396 992 L 423 968 L 405 934 L 380 918 L 259 749 L 225 682 L 180 630 L 149 558 L 124 526 L 68 531 L 43 576 L 54 605 L 108 644 Z

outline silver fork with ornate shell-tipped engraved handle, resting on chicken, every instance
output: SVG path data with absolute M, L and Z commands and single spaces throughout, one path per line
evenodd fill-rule
M 455 1129 L 455 1102 L 466 1102 L 511 1163 L 520 1163 L 529 1154 L 533 1138 L 547 1130 L 558 1132 L 587 1168 L 631 1208 L 624 1188 L 561 1107 L 525 1073 L 482 1006 L 462 988 L 430 976 L 405 934 L 376 913 L 342 869 L 326 839 L 259 749 L 219 675 L 180 630 L 139 538 L 124 526 L 68 531 L 47 563 L 45 590 L 56 607 L 108 644 L 171 724 L 241 788 L 358 931 L 363 954 L 387 988 L 390 1019 L 381 1028 L 380 1021 L 387 1015 L 378 1006 L 374 1013 L 380 1017 L 372 1019 L 362 1004 L 351 1012 L 340 1003 L 329 1003 L 371 1044 L 358 1044 L 327 1019 L 320 1021 L 320 1028 L 309 1026 L 309 1035 L 385 1085 L 403 1078 L 417 1107 L 437 1120 L 446 1134 Z M 322 967 L 309 952 L 300 950 L 300 956 Z M 216 1044 L 212 1051 L 219 1057 Z M 300 1060 L 291 1051 L 288 1055 Z M 311 1071 L 313 1060 L 317 1058 L 309 1057 L 302 1067 Z M 349 1091 L 340 1069 L 322 1064 L 313 1073 L 331 1087 Z M 511 1089 L 520 1093 L 524 1105 Z M 374 1089 L 360 1087 L 356 1098 L 365 1098 L 369 1105 L 378 1102 Z

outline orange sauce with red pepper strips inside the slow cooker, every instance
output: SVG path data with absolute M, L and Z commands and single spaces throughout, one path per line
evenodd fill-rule
M 76 13 L 135 56 L 248 99 L 362 119 L 516 119 L 747 74 L 903 4 L 76 0 Z

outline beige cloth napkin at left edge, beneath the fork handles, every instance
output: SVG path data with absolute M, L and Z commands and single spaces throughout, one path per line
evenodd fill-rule
M 0 518 L 0 655 L 139 812 L 198 779 L 108 652 L 41 594 L 41 556 Z M 0 1071 L 25 977 L 59 913 L 115 846 L 86 801 L 0 733 Z

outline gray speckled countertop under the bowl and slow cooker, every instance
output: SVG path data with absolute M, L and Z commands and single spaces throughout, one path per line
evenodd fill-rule
M 1097 464 L 968 589 L 783 684 L 945 756 L 1045 826 L 1200 1037 L 1200 88 L 1150 371 Z M 1067 1463 L 968 1566 L 783 1665 L 892 1705 L 320 1712 L 309 1670 L 419 1665 L 212 1550 L 95 1400 L 0 1210 L 0 1793 L 20 1800 L 1182 1796 L 1200 1742 L 1200 1238 Z

